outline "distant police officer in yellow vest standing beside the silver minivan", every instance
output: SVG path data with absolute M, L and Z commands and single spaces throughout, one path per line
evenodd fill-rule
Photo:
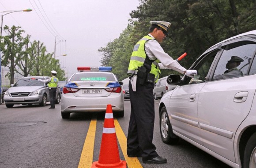
M 58 85 L 59 79 L 55 76 L 57 74 L 56 71 L 53 70 L 51 71 L 51 73 L 52 73 L 52 77 L 45 80 L 45 82 L 48 83 L 49 93 L 50 93 L 51 107 L 49 107 L 49 109 L 55 109 L 55 99 L 56 99 L 57 85 Z

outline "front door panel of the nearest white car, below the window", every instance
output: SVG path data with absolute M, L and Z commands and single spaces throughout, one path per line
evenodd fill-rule
M 197 118 L 198 93 L 205 83 L 177 86 L 170 99 L 170 122 L 179 133 L 202 145 Z

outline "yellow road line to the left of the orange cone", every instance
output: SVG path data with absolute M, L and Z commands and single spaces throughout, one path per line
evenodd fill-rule
M 93 164 L 93 150 L 94 150 L 94 140 L 96 133 L 97 119 L 91 119 L 90 126 L 85 138 L 84 147 L 80 157 L 80 162 L 78 168 L 90 168 Z

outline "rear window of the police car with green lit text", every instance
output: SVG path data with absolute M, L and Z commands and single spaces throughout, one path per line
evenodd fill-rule
M 77 73 L 72 76 L 70 81 L 115 81 L 115 77 L 111 73 Z

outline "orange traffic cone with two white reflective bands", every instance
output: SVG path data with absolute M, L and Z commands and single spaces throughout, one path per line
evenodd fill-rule
M 103 133 L 100 145 L 99 160 L 91 168 L 126 168 L 126 161 L 120 160 L 116 131 L 111 105 L 107 105 Z

